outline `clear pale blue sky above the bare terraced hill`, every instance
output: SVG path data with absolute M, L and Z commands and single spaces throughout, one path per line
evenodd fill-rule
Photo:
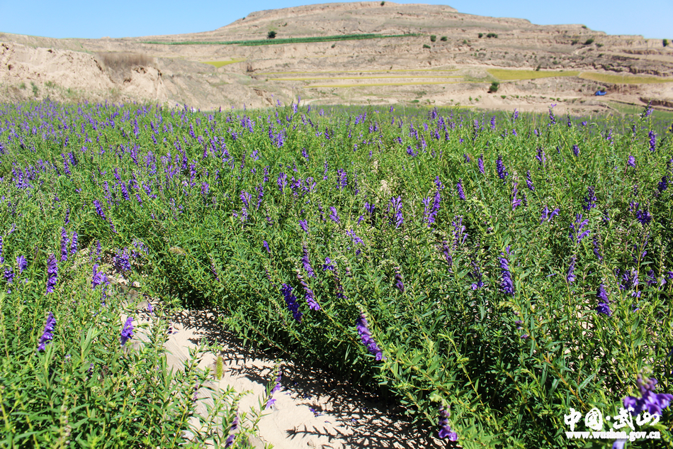
M 123 38 L 211 31 L 263 9 L 329 1 L 8 1 L 0 0 L 0 32 L 50 38 Z M 609 34 L 673 40 L 673 0 L 417 0 L 448 4 L 477 16 L 526 18 L 539 25 L 582 23 Z

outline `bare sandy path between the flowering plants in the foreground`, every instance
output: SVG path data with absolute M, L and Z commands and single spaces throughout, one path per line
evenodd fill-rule
M 132 292 L 132 291 L 131 291 Z M 127 294 L 135 302 L 137 294 Z M 135 296 L 135 297 L 134 297 Z M 154 304 L 157 308 L 159 304 Z M 149 323 L 147 301 L 134 324 Z M 123 317 L 125 318 L 125 317 Z M 239 411 L 259 409 L 264 400 L 266 385 L 273 380 L 277 363 L 283 370 L 281 390 L 273 394 L 275 404 L 265 411 L 259 421 L 259 438 L 250 443 L 255 448 L 442 448 L 444 442 L 436 438 L 435 429 L 419 430 L 403 415 L 404 409 L 382 401 L 366 389 L 358 389 L 328 372 L 298 366 L 285 360 L 272 360 L 263 353 L 243 348 L 231 333 L 217 322 L 212 311 L 186 310 L 171 316 L 171 334 L 166 342 L 169 367 L 180 370 L 189 358 L 189 350 L 199 345 L 222 348 L 203 350 L 199 367 L 213 373 L 210 389 L 234 387 L 237 392 L 248 392 L 239 402 Z M 142 344 L 141 331 L 136 345 Z M 201 343 L 206 343 L 203 345 Z M 215 379 L 217 355 L 223 360 L 224 374 Z M 208 388 L 198 392 L 201 416 L 206 415 L 206 404 L 213 404 Z M 194 420 L 196 422 L 196 419 Z

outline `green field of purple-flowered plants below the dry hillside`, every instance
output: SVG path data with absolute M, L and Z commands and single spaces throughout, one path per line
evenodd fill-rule
M 626 406 L 673 444 L 670 123 L 326 109 L 0 106 L 3 445 L 184 442 L 203 375 L 130 347 L 112 270 L 448 446 L 611 446 L 564 416 Z

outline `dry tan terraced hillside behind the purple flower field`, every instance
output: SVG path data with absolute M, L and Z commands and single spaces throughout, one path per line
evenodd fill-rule
M 402 36 L 255 46 L 148 43 L 259 40 L 268 31 L 275 31 L 277 39 Z M 489 33 L 497 37 L 487 38 Z M 507 81 L 489 72 L 498 68 L 577 76 Z M 595 81 L 587 74 L 630 78 Z M 641 105 L 655 99 L 657 107 L 673 109 L 673 82 L 645 84 L 643 75 L 672 79 L 673 46 L 581 25 L 538 26 L 422 4 L 360 2 L 259 11 L 215 31 L 186 35 L 91 40 L 0 33 L 0 101 L 48 96 L 205 110 L 271 106 L 278 100 L 288 104 L 301 96 L 315 105 L 461 104 L 544 111 L 556 103 L 560 113 L 595 113 L 614 102 Z M 493 81 L 501 84 L 490 94 Z M 594 96 L 601 88 L 608 94 Z

